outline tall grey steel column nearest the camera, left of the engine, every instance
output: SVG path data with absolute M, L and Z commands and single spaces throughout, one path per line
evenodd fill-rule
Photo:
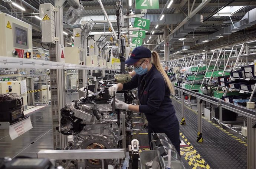
M 56 1 L 55 1 L 56 3 Z M 55 12 L 55 31 L 59 41 L 56 44 L 50 44 L 50 61 L 60 62 L 61 51 L 60 45 L 63 45 L 63 7 L 58 7 Z M 56 127 L 59 126 L 60 109 L 65 106 L 65 77 L 64 70 L 50 70 L 51 83 L 51 101 L 52 101 L 52 116 L 53 116 L 53 148 L 64 148 L 66 146 L 67 137 L 60 134 Z

